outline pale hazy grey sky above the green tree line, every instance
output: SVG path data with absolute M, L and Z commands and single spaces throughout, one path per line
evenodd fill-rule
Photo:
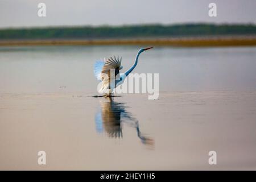
M 217 17 L 208 15 L 210 2 Z M 0 0 L 1 28 L 184 22 L 256 23 L 256 0 Z

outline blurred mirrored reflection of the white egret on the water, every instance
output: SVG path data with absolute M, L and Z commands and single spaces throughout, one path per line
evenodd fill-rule
M 101 110 L 96 113 L 96 130 L 98 133 L 106 132 L 109 137 L 122 138 L 123 123 L 134 127 L 137 136 L 143 144 L 154 146 L 154 140 L 144 136 L 139 130 L 139 122 L 136 118 L 131 117 L 131 113 L 126 111 L 124 103 L 113 101 L 112 97 L 105 98 L 100 102 Z

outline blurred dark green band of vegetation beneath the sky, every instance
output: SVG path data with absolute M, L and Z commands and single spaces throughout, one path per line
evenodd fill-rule
M 256 35 L 254 24 L 149 24 L 141 26 L 7 28 L 0 30 L 6 39 L 102 39 L 159 36 Z

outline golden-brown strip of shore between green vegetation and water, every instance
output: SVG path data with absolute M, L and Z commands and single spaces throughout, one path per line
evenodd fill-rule
M 111 46 L 151 45 L 173 47 L 256 46 L 256 36 L 215 36 L 193 38 L 129 38 L 129 39 L 44 39 L 0 40 L 0 46 Z

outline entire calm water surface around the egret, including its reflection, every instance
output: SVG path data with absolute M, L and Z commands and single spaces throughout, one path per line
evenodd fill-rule
M 158 100 L 92 97 L 94 61 L 137 49 L 1 47 L 0 169 L 256 169 L 256 48 L 155 47 Z

